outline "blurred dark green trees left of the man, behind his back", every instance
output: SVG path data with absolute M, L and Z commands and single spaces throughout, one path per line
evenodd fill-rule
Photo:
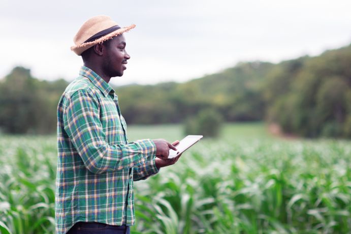
M 7 133 L 47 134 L 56 130 L 59 97 L 68 82 L 40 81 L 15 67 L 0 80 L 0 128 Z

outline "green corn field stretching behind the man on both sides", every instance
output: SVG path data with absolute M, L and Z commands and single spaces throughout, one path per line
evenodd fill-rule
M 172 141 L 179 129 L 136 126 L 129 135 Z M 55 136 L 1 136 L 1 233 L 54 233 L 56 155 Z M 135 187 L 132 233 L 351 232 L 350 141 L 226 125 Z

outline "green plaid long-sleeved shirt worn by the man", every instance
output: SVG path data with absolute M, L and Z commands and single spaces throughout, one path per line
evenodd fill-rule
M 158 172 L 152 140 L 129 142 L 118 98 L 82 67 L 57 108 L 56 233 L 76 222 L 133 225 L 133 181 Z

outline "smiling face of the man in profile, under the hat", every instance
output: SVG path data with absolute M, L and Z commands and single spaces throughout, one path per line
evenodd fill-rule
M 125 38 L 122 35 L 114 37 L 105 46 L 104 71 L 110 77 L 122 76 L 126 69 L 127 60 L 131 58 L 125 51 Z

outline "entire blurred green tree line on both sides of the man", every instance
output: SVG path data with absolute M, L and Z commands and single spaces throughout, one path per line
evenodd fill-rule
M 52 133 L 68 82 L 41 81 L 16 67 L 0 80 L 0 127 Z M 351 45 L 279 64 L 239 63 L 184 83 L 115 88 L 129 124 L 180 123 L 202 110 L 224 121 L 278 124 L 305 137 L 351 137 Z

